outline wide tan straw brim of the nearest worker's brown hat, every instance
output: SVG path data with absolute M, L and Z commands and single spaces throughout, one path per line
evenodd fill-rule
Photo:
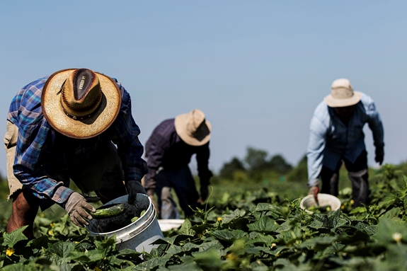
M 51 127 L 67 137 L 87 139 L 104 132 L 115 121 L 122 102 L 120 89 L 113 79 L 97 73 L 103 98 L 91 117 L 74 120 L 68 117 L 61 105 L 61 86 L 75 69 L 64 69 L 52 74 L 42 88 L 41 108 Z

